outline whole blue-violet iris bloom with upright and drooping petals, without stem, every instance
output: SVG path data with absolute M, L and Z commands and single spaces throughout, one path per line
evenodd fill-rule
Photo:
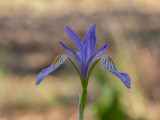
M 95 50 L 95 44 L 97 42 L 97 37 L 95 35 L 96 25 L 90 26 L 89 30 L 80 42 L 78 36 L 72 31 L 68 26 L 66 26 L 66 33 L 75 43 L 78 52 L 75 53 L 73 50 L 68 48 L 62 42 L 59 42 L 64 49 L 72 54 L 73 57 L 69 55 L 59 55 L 55 58 L 52 65 L 48 68 L 43 69 L 37 76 L 36 85 L 39 85 L 40 82 L 51 72 L 56 70 L 66 59 L 69 59 L 70 62 L 76 68 L 82 83 L 82 87 L 86 88 L 88 85 L 89 76 L 94 68 L 94 66 L 100 61 L 103 60 L 103 68 L 108 70 L 112 74 L 116 75 L 127 88 L 131 88 L 131 79 L 127 73 L 118 72 L 114 61 L 111 57 L 104 55 L 99 56 L 104 50 L 108 48 L 108 44 L 105 44 L 102 48 Z

